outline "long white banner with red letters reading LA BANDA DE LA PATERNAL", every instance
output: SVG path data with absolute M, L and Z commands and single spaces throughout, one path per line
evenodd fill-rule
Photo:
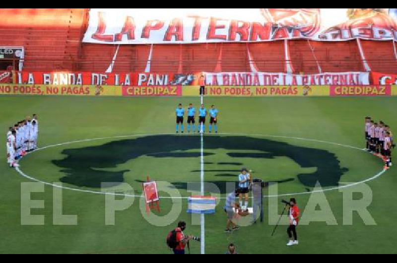
M 287 74 L 265 72 L 203 72 L 206 85 L 369 85 L 369 72 Z

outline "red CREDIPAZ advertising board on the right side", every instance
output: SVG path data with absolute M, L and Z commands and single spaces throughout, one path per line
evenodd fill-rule
M 336 86 L 331 85 L 330 96 L 391 96 L 391 85 Z

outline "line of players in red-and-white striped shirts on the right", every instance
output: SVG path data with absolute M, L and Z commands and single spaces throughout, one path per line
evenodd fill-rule
M 376 123 L 371 117 L 365 117 L 366 150 L 385 161 L 385 169 L 392 166 L 392 148 L 395 147 L 393 132 L 384 122 Z

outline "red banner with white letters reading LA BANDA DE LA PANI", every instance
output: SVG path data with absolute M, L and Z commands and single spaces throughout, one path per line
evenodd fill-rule
M 163 86 L 194 85 L 195 74 L 150 73 L 150 72 L 17 72 L 18 84 L 44 85 L 125 85 Z

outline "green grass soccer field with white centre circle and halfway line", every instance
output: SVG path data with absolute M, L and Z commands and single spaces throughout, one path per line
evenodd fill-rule
M 204 216 L 205 254 L 223 254 L 229 243 L 240 254 L 396 253 L 396 169 L 381 173 L 382 160 L 361 149 L 365 116 L 396 131 L 397 97 L 204 97 L 207 108 L 215 104 L 219 110 L 219 133 L 209 134 L 207 126 L 203 135 L 203 182 L 200 134 L 175 134 L 177 104 L 198 108 L 199 102 L 199 97 L 0 96 L 4 134 L 16 121 L 37 113 L 39 147 L 51 146 L 22 158 L 21 173 L 9 168 L 5 158 L 0 164 L 0 233 L 7 237 L 0 241 L 0 253 L 170 254 L 165 239 L 178 221 L 187 222 L 185 234 L 201 236 L 200 217 L 186 212 L 187 199 L 172 197 L 188 197 L 189 183 L 204 182 L 217 186 L 215 194 L 221 197 L 216 213 Z M 248 217 L 241 218 L 238 231 L 224 233 L 226 183 L 236 183 L 242 167 L 277 183 L 279 197 L 264 198 L 263 223 L 248 225 Z M 138 197 L 146 176 L 166 182 L 159 187 L 165 197 L 159 201 L 161 212 L 148 218 Z M 366 225 L 356 212 L 352 225 L 344 225 L 343 189 L 338 188 L 359 187 L 354 183 L 365 180 L 372 191 L 367 209 L 376 225 Z M 44 192 L 32 193 L 31 199 L 44 200 L 45 208 L 31 213 L 44 215 L 44 224 L 21 224 L 21 183 L 37 181 L 62 183 L 63 214 L 77 215 L 76 225 L 54 224 L 54 190 L 43 183 L 38 185 Z M 133 203 L 115 212 L 114 225 L 105 224 L 106 195 L 97 193 L 102 182 L 116 188 L 127 183 L 137 196 L 116 197 L 133 198 Z M 310 193 L 317 182 L 325 191 Z M 264 195 L 272 193 L 265 188 Z M 285 246 L 286 225 L 270 236 L 274 223 L 269 224 L 269 207 L 280 214 L 279 200 L 296 197 L 304 216 L 309 199 L 323 195 L 336 224 L 299 225 L 299 246 Z M 355 193 L 353 198 L 363 196 Z M 175 207 L 180 213 L 169 216 Z M 191 241 L 191 253 L 200 252 L 200 243 Z

